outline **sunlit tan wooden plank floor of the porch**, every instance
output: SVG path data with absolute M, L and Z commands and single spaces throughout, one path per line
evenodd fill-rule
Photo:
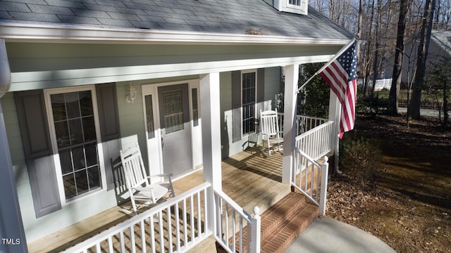
M 282 155 L 273 153 L 264 156 L 258 148 L 250 148 L 222 162 L 223 191 L 238 205 L 252 214 L 258 206 L 261 212 L 275 204 L 290 193 L 290 186 L 281 182 Z M 176 195 L 193 188 L 203 182 L 202 171 L 174 181 Z M 107 228 L 130 218 L 121 212 L 130 209 L 130 203 L 113 207 L 105 212 L 92 216 L 85 221 L 64 228 L 57 233 L 32 242 L 28 245 L 30 252 L 61 252 Z

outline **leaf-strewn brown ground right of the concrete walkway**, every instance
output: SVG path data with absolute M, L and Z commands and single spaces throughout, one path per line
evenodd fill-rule
M 355 134 L 378 143 L 383 154 L 371 186 L 344 170 L 333 174 L 328 211 L 397 252 L 451 252 L 451 130 L 438 119 L 406 127 L 404 117 L 356 119 Z

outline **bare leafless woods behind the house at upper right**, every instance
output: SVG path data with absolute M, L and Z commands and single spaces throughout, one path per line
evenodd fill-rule
M 412 91 L 409 92 L 412 95 L 408 99 L 408 115 L 413 119 L 421 116 L 421 91 L 438 89 L 439 86 L 438 90 L 443 90 L 441 99 L 447 102 L 449 92 L 446 91 L 450 85 L 446 83 L 451 82 L 450 64 L 444 60 L 442 65 L 427 66 L 426 58 L 431 30 L 451 30 L 451 0 L 310 0 L 309 4 L 364 41 L 358 58 L 359 78 L 364 79 L 364 96 L 373 96 L 371 87 L 374 87 L 376 78 L 372 76 L 381 74 L 383 60 L 395 54 L 388 112 L 397 114 L 400 89 Z M 415 48 L 416 67 L 409 70 L 414 73 L 412 80 L 401 84 L 404 44 L 411 39 L 419 45 Z M 440 78 L 446 79 L 445 86 L 435 79 L 426 80 L 427 71 L 441 73 Z M 440 85 L 431 85 L 437 82 Z M 447 108 L 443 110 L 447 112 Z

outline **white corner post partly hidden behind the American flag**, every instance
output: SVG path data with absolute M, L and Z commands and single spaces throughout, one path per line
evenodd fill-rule
M 334 157 L 334 170 L 335 172 L 341 173 L 338 169 L 338 160 L 340 159 L 340 154 L 338 151 L 340 150 L 340 138 L 338 138 L 338 134 L 340 134 L 340 117 L 341 117 L 341 104 L 338 101 L 337 95 L 330 90 L 329 96 L 329 120 L 332 120 L 335 124 L 335 133 L 330 137 L 333 138 L 333 157 Z

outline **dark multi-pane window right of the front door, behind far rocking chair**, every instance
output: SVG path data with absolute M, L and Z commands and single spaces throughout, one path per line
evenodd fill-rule
M 256 72 L 242 73 L 242 134 L 255 131 Z

